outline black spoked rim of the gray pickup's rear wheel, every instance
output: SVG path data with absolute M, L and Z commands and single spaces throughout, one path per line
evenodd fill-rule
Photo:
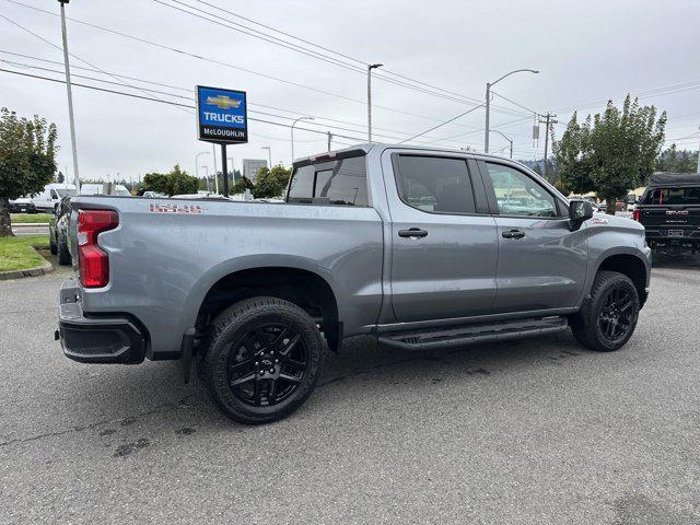
M 295 328 L 284 323 L 259 325 L 231 346 L 229 387 L 246 405 L 278 405 L 299 388 L 307 362 L 306 346 Z

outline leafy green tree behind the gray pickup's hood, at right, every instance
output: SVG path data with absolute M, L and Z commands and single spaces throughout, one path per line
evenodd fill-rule
M 654 106 L 640 106 L 627 95 L 622 109 L 608 101 L 603 114 L 579 125 L 574 113 L 561 140 L 553 141 L 561 187 L 567 191 L 596 191 L 615 214 L 615 201 L 646 182 L 664 142 L 666 113 L 656 118 Z

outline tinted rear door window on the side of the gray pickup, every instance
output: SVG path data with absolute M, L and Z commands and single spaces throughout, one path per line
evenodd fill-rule
M 399 197 L 412 208 L 432 213 L 475 213 L 467 162 L 442 156 L 398 155 Z

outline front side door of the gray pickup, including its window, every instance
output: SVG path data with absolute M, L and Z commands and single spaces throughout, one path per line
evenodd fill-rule
M 514 165 L 479 164 L 497 213 L 498 313 L 575 306 L 588 259 L 585 228 L 571 232 L 563 206 Z

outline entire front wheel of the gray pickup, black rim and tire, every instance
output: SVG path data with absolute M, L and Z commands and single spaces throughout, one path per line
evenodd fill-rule
M 570 318 L 571 330 L 584 347 L 610 352 L 632 337 L 639 308 L 639 294 L 629 277 L 617 271 L 599 271 L 591 296 Z

